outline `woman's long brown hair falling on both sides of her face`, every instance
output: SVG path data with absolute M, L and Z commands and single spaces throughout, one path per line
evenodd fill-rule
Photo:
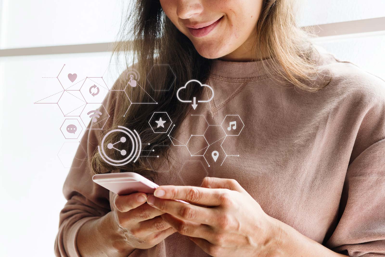
M 261 47 L 270 57 L 277 60 L 273 67 L 290 84 L 305 91 L 314 92 L 319 89 L 311 82 L 318 76 L 318 66 L 313 58 L 314 49 L 308 40 L 308 35 L 298 29 L 291 0 L 264 0 L 263 9 L 256 26 L 256 51 Z M 130 10 L 135 10 L 131 12 Z M 120 38 L 114 48 L 114 55 L 124 53 L 126 67 L 134 67 L 141 74 L 141 87 L 151 92 L 158 104 L 132 104 L 127 97 L 115 97 L 115 114 L 112 126 L 127 126 L 139 132 L 144 144 L 142 152 L 156 148 L 154 155 L 167 157 L 170 143 L 167 133 L 153 133 L 149 127 L 149 119 L 155 111 L 167 112 L 173 124 L 178 126 L 189 112 L 190 105 L 183 104 L 176 98 L 176 90 L 190 79 L 204 82 L 209 75 L 210 60 L 202 57 L 195 50 L 191 41 L 172 24 L 162 11 L 159 1 L 137 0 L 134 6 L 127 10 L 127 19 L 121 26 Z M 266 52 L 265 52 L 266 53 Z M 131 56 L 131 57 L 130 57 Z M 160 64 L 167 64 L 171 69 L 157 69 Z M 128 68 L 130 69 L 130 68 Z M 150 72 L 151 71 L 151 72 Z M 121 89 L 127 84 L 127 76 L 115 82 L 114 89 Z M 277 77 L 278 78 L 278 77 Z M 309 83 L 304 83 L 310 82 Z M 151 83 L 151 84 L 150 84 Z M 156 90 L 154 90 L 156 87 Z M 185 91 L 186 99 L 199 95 L 198 89 Z M 135 102 L 151 101 L 144 91 L 136 91 L 132 95 Z M 130 106 L 126 115 L 124 112 Z M 119 138 L 114 136 L 112 141 Z M 119 153 L 111 153 L 119 155 Z M 116 156 L 119 158 L 119 156 Z M 167 158 L 165 158 L 167 159 Z M 117 159 L 119 160 L 119 159 Z M 134 171 L 153 178 L 155 173 L 146 157 L 141 157 L 136 163 L 126 166 L 108 165 L 95 153 L 92 158 L 94 173 Z

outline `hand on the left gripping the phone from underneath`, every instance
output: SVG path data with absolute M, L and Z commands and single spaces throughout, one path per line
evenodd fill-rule
M 149 249 L 176 232 L 160 216 L 164 212 L 146 203 L 145 193 L 114 194 L 112 199 L 114 210 L 109 213 L 112 227 L 117 238 L 124 236 L 123 240 L 115 241 L 114 247 L 119 252 L 125 252 L 127 248 Z

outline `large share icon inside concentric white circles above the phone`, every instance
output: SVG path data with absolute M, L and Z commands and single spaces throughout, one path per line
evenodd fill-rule
M 110 158 L 105 153 L 105 140 L 107 136 L 109 136 L 112 133 L 124 133 L 125 136 L 122 136 L 120 138 L 120 141 L 117 142 L 109 142 L 107 143 L 108 149 L 115 149 L 116 151 L 119 151 L 121 156 L 124 157 L 122 160 L 114 160 Z M 131 151 L 130 151 L 131 150 Z M 102 139 L 102 143 L 100 146 L 98 146 L 98 151 L 100 157 L 108 164 L 113 166 L 122 166 L 126 165 L 127 163 L 136 162 L 141 154 L 142 150 L 142 141 L 137 133 L 137 131 L 134 129 L 134 131 L 131 131 L 130 129 L 118 126 L 117 129 L 113 129 L 109 131 L 107 134 L 104 135 Z M 128 154 L 127 154 L 128 153 Z

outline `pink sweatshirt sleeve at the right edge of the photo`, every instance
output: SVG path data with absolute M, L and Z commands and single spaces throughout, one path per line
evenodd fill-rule
M 384 86 L 385 87 L 385 86 Z M 352 257 L 385 256 L 385 97 L 363 115 L 326 246 Z

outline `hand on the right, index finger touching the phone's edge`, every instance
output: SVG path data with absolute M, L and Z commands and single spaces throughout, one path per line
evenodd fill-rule
M 206 177 L 202 187 L 159 186 L 154 195 L 147 202 L 209 255 L 269 256 L 278 248 L 276 220 L 236 180 Z

